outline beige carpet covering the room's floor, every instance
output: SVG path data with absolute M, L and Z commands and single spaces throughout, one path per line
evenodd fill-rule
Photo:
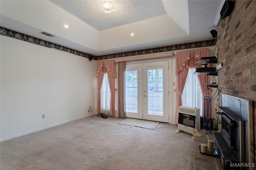
M 4 141 L 1 170 L 193 170 L 193 139 L 176 125 L 154 129 L 87 117 Z

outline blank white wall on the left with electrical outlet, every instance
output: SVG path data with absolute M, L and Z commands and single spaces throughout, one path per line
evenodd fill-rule
M 0 38 L 1 141 L 96 113 L 96 61 Z

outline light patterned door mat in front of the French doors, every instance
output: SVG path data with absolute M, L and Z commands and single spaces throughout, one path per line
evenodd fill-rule
M 146 129 L 155 129 L 157 127 L 157 125 L 159 124 L 159 122 L 127 118 L 118 124 L 142 127 L 142 128 L 146 128 Z

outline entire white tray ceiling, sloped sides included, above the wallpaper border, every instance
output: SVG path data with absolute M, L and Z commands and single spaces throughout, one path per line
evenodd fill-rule
M 212 40 L 224 1 L 113 0 L 110 13 L 100 8 L 104 2 L 0 0 L 0 26 L 100 56 Z

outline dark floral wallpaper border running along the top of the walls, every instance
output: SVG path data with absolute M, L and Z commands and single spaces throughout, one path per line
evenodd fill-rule
M 38 39 L 35 37 L 32 37 L 30 35 L 26 35 L 23 33 L 19 33 L 4 27 L 0 27 L 0 34 L 6 35 L 8 37 L 20 39 L 22 41 L 27 41 L 29 43 L 34 43 L 37 45 L 42 45 L 44 47 L 54 48 L 61 51 L 66 51 L 68 53 L 72 53 L 74 55 L 79 55 L 82 57 L 90 58 L 92 57 L 93 60 L 104 60 L 104 59 L 114 59 L 118 57 L 128 57 L 133 55 L 142 55 L 142 54 L 151 54 L 151 53 L 160 53 L 165 51 L 174 51 L 174 50 L 181 50 L 181 49 L 192 49 L 192 48 L 198 48 L 198 47 L 208 47 L 216 44 L 216 40 L 208 40 L 208 41 L 200 41 L 200 42 L 194 42 L 194 43 L 186 43 L 186 44 L 180 44 L 180 45 L 170 45 L 166 47 L 158 47 L 158 48 L 151 48 L 151 49 L 144 49 L 144 50 L 138 50 L 138 51 L 130 51 L 125 53 L 116 53 L 111 55 L 102 55 L 102 56 L 94 56 L 87 53 L 83 53 L 81 51 L 76 51 L 74 49 L 70 49 L 67 47 L 63 47 L 61 45 L 57 45 L 54 43 L 50 43 L 48 41 L 44 41 L 42 39 Z

